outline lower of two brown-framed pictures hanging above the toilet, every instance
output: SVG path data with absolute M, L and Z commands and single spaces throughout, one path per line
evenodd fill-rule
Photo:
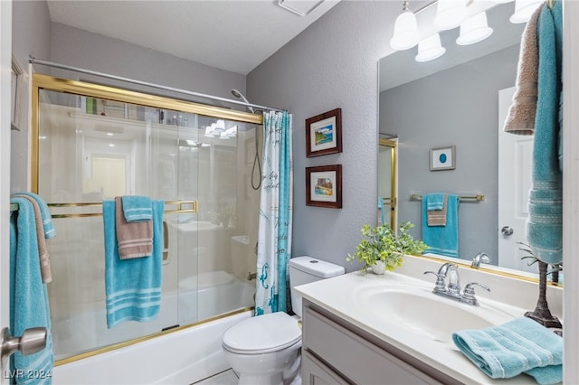
M 306 205 L 342 208 L 342 164 L 306 167 Z

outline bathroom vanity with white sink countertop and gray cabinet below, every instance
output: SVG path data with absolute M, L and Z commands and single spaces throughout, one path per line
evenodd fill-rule
M 415 277 L 357 271 L 296 288 L 303 296 L 304 384 L 536 383 L 525 374 L 490 379 L 451 340 L 454 331 L 503 324 L 532 310 L 536 283 L 463 268 L 463 284 L 476 279 L 492 290 L 478 291 L 480 305 L 473 306 L 435 296 L 432 278 L 418 276 L 441 263 L 411 260 L 408 265 Z M 508 296 L 513 291 L 514 303 Z M 560 295 L 549 288 L 557 316 Z

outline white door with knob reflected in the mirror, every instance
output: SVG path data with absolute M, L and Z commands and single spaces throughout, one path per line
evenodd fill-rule
M 518 242 L 527 243 L 528 192 L 531 188 L 533 136 L 503 131 L 515 87 L 498 91 L 498 265 L 538 273 Z

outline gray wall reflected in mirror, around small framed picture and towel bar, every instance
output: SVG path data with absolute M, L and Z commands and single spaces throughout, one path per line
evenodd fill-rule
M 416 224 L 413 192 L 482 193 L 461 202 L 460 257 L 485 251 L 497 263 L 498 89 L 515 85 L 518 45 L 380 94 L 380 130 L 399 136 L 399 221 Z M 468 85 L 468 87 L 465 87 Z M 430 171 L 429 149 L 456 146 L 456 169 Z

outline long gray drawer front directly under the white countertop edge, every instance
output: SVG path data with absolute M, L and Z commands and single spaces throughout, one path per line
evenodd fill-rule
M 303 349 L 359 384 L 441 384 L 374 343 L 304 306 Z

